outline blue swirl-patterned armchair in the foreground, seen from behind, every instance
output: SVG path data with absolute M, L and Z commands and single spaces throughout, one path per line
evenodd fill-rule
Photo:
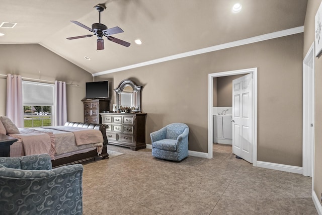
M 0 157 L 1 214 L 82 214 L 83 166 L 52 169 L 48 154 Z

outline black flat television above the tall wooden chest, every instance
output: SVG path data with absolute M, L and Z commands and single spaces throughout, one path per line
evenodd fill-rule
M 86 99 L 105 99 L 109 98 L 109 82 L 87 82 Z

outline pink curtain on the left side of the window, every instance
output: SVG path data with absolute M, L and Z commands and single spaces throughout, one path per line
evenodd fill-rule
M 21 76 L 7 74 L 7 111 L 6 115 L 17 127 L 24 127 L 24 107 L 22 104 Z

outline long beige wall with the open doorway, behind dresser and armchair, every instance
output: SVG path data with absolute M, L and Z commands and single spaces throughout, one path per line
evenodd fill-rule
M 207 152 L 208 74 L 258 67 L 258 160 L 302 166 L 302 59 L 303 34 L 296 34 L 95 80 L 109 78 L 113 88 L 123 79 L 143 86 L 148 144 L 150 132 L 184 122 L 190 127 L 189 150 Z

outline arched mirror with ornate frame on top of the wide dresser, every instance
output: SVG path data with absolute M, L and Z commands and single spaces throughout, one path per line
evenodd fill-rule
M 116 93 L 117 111 L 141 112 L 141 86 L 137 86 L 131 80 L 126 79 L 114 91 Z

